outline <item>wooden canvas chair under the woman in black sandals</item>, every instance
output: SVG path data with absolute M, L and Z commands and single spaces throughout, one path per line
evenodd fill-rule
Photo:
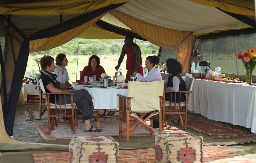
M 74 128 L 74 115 L 75 115 L 75 120 L 76 120 L 76 128 L 78 129 L 77 126 L 77 110 L 76 110 L 76 104 L 73 103 L 73 94 L 72 93 L 46 93 L 43 81 L 42 79 L 39 80 L 40 87 L 42 89 L 43 94 L 45 95 L 46 99 L 46 107 L 48 109 L 48 134 L 51 134 L 51 130 L 54 129 L 54 123 L 56 124 L 56 127 L 58 126 L 57 124 L 57 118 L 58 117 L 67 117 L 69 118 L 69 123 L 71 124 L 71 130 L 73 131 L 73 134 L 75 134 L 75 128 Z M 50 95 L 55 96 L 55 103 L 56 103 L 56 95 L 60 97 L 60 95 L 64 95 L 64 104 L 62 104 L 61 100 L 60 103 L 61 105 L 58 104 L 53 104 L 50 103 Z M 66 95 L 71 96 L 71 103 L 66 103 Z

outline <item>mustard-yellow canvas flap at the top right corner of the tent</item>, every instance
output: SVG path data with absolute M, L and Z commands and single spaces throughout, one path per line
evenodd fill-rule
M 209 7 L 218 7 L 224 11 L 255 17 L 254 2 L 247 0 L 188 0 Z

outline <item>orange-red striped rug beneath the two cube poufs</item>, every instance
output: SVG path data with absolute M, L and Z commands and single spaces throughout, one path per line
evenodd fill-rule
M 69 152 L 59 153 L 40 153 L 32 154 L 35 163 L 68 163 Z M 218 146 L 203 146 L 203 161 L 204 163 L 253 163 L 247 159 L 225 147 Z M 153 148 L 136 149 L 136 150 L 119 150 L 119 163 L 141 163 L 155 162 L 155 150 Z

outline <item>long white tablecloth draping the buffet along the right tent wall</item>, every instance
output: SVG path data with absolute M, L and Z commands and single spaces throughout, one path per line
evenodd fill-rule
M 256 87 L 195 79 L 188 110 L 256 133 Z

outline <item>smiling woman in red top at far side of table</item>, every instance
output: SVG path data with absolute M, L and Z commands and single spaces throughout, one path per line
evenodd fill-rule
M 89 79 L 89 77 L 92 77 L 92 75 L 96 75 L 96 80 L 100 81 L 100 75 L 102 73 L 105 73 L 105 70 L 102 66 L 100 66 L 100 58 L 96 55 L 92 55 L 89 58 L 88 66 L 85 66 L 83 68 L 80 76 L 80 81 L 84 81 L 83 76 L 88 76 Z

